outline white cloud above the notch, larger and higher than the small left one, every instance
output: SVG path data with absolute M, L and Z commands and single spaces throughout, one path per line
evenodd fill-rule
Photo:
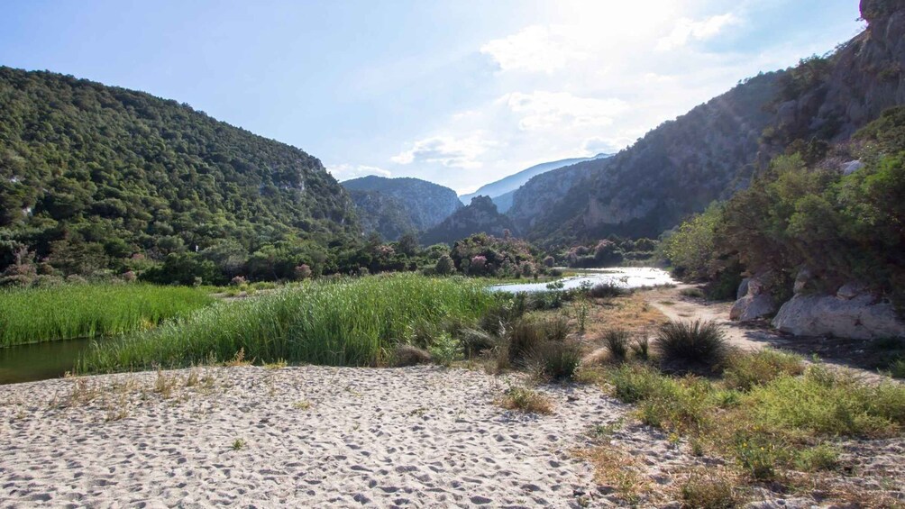
M 501 97 L 514 113 L 521 115 L 519 128 L 535 130 L 548 127 L 604 127 L 628 109 L 621 99 L 581 98 L 568 92 L 513 92 Z

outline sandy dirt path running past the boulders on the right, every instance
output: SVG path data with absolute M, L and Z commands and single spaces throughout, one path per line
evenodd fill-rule
M 685 297 L 681 291 L 693 288 L 679 285 L 644 292 L 647 303 L 674 320 L 715 320 L 722 325 L 729 343 L 742 350 L 754 351 L 764 347 L 798 353 L 805 358 L 818 356 L 821 362 L 840 369 L 851 369 L 865 380 L 873 382 L 893 380 L 877 372 L 876 365 L 884 355 L 862 340 L 803 337 L 780 333 L 769 323 L 740 324 L 729 320 L 731 302 L 708 302 L 703 298 Z

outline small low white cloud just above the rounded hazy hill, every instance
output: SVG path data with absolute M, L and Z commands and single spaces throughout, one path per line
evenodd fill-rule
M 478 158 L 496 142 L 475 133 L 468 137 L 437 136 L 414 142 L 412 148 L 390 157 L 398 165 L 436 163 L 451 168 L 480 168 Z

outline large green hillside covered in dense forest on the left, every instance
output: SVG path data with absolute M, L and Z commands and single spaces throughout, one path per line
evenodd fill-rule
M 121 270 L 206 249 L 244 260 L 357 236 L 348 194 L 298 148 L 174 100 L 0 67 L 0 270 Z

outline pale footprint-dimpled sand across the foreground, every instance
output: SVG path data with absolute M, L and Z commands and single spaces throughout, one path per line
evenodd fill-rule
M 518 380 L 463 369 L 245 366 L 189 376 L 0 387 L 0 505 L 578 507 L 615 500 L 575 455 L 590 427 L 627 415 L 628 407 L 593 386 L 541 388 L 555 411 L 538 415 L 494 404 Z M 620 433 L 647 463 L 680 462 L 652 429 Z

